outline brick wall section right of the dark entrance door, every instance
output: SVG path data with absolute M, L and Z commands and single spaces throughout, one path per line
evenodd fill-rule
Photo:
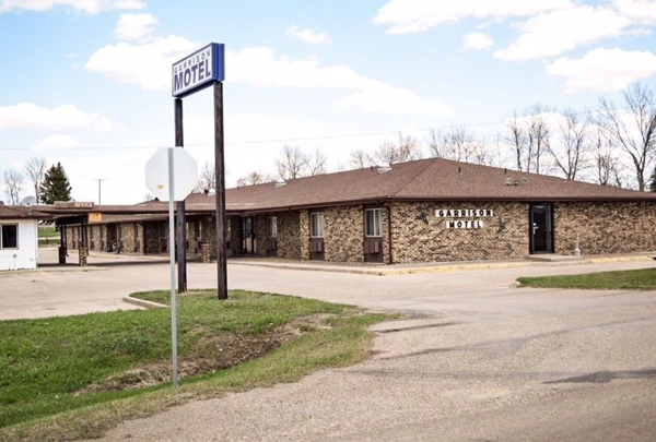
M 555 253 L 656 251 L 656 203 L 554 203 Z

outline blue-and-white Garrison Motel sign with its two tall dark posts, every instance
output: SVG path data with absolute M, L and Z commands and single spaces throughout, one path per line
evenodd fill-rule
M 225 159 L 223 139 L 223 81 L 225 80 L 225 47 L 212 43 L 183 58 L 172 68 L 172 95 L 175 101 L 176 144 L 183 142 L 181 98 L 209 86 L 214 86 L 214 158 L 216 172 L 216 278 L 219 299 L 227 299 L 227 262 L 225 248 Z M 181 145 L 181 144 L 180 144 Z M 184 211 L 184 205 L 180 206 Z M 180 214 L 178 214 L 180 216 Z M 184 215 L 183 215 L 184 216 Z M 181 229 L 178 230 L 180 234 Z M 183 238 L 183 244 L 185 244 Z M 180 242 L 178 242 L 178 247 Z M 184 252 L 183 252 L 184 253 Z M 186 256 L 185 256 L 186 259 Z M 179 260 L 181 261 L 181 260 Z M 178 265 L 179 265 L 178 261 Z M 186 262 L 178 266 L 186 289 Z M 180 286 L 178 282 L 178 286 Z

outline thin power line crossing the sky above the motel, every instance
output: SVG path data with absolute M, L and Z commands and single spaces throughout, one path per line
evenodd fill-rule
M 609 110 L 625 110 L 629 107 L 620 107 L 613 108 Z M 581 112 L 573 112 L 572 115 L 591 115 L 597 112 L 597 110 L 583 110 Z M 518 116 L 518 118 L 524 118 L 527 116 Z M 321 140 L 340 140 L 340 139 L 354 139 L 354 138 L 366 138 L 366 136 L 377 136 L 377 135 L 390 135 L 397 133 L 417 133 L 417 132 L 429 132 L 431 130 L 440 131 L 447 129 L 460 129 L 460 128 L 477 128 L 483 126 L 496 126 L 504 124 L 507 121 L 490 121 L 490 122 L 480 122 L 480 123 L 468 123 L 468 124 L 449 124 L 449 126 L 437 126 L 432 128 L 423 128 L 423 129 L 398 129 L 394 131 L 382 131 L 382 132 L 356 132 L 356 133 L 345 133 L 338 135 L 320 135 L 320 136 L 305 136 L 305 138 L 294 138 L 294 139 L 272 139 L 272 140 L 249 140 L 249 141 L 235 141 L 235 142 L 226 142 L 226 145 L 247 145 L 247 144 L 273 144 L 273 143 L 296 143 L 301 141 L 321 141 Z M 212 143 L 196 143 L 196 144 L 185 144 L 185 147 L 206 147 L 213 145 Z M 142 145 L 142 146 L 81 146 L 81 147 L 44 147 L 36 151 L 118 151 L 118 150 L 147 150 L 147 148 L 162 148 L 162 147 L 171 147 L 169 145 Z M 0 147 L 0 151 L 26 151 L 25 147 Z

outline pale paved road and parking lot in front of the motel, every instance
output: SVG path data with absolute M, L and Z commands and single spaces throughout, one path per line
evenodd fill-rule
M 377 277 L 231 265 L 234 288 L 409 316 L 376 327 L 376 354 L 364 363 L 176 407 L 125 422 L 105 440 L 653 441 L 656 292 L 513 287 L 519 275 L 645 266 L 654 264 Z M 214 272 L 191 264 L 190 286 L 212 286 Z M 67 274 L 78 296 L 114 300 L 167 280 L 159 263 Z M 27 275 L 0 277 L 3 304 Z

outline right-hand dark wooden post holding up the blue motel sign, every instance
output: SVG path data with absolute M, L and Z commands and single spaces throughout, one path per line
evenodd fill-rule
M 216 284 L 219 299 L 227 299 L 225 249 L 225 162 L 223 140 L 223 83 L 214 83 L 214 160 L 216 171 Z

